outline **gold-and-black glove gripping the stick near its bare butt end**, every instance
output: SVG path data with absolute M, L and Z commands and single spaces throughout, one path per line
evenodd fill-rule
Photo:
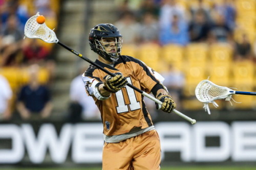
M 156 104 L 156 108 L 159 110 L 161 109 L 164 112 L 170 113 L 176 108 L 176 103 L 174 102 L 172 96 L 169 94 L 162 94 L 160 93 L 157 96 L 157 99 L 161 102 L 163 102 L 162 107 L 160 108 L 161 105 Z

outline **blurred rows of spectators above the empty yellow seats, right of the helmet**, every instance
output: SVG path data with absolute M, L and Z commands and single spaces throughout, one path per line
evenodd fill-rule
M 234 59 L 255 57 L 254 1 L 121 0 L 116 3 L 118 20 L 114 24 L 122 33 L 124 44 L 186 46 L 194 42 L 209 45 L 226 42 L 233 46 Z

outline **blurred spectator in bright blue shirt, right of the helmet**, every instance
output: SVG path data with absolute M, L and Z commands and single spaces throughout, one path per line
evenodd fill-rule
M 188 40 L 187 23 L 181 20 L 179 15 L 173 15 L 170 25 L 160 29 L 159 41 L 161 45 L 174 43 L 185 46 Z

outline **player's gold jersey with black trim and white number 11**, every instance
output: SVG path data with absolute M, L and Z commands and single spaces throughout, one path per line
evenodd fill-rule
M 163 79 L 142 61 L 130 56 L 120 56 L 113 66 L 99 60 L 95 62 L 110 72 L 121 72 L 130 84 L 147 93 L 150 93 L 152 88 Z M 100 110 L 103 133 L 107 136 L 121 135 L 137 127 L 144 129 L 152 126 L 152 119 L 145 107 L 143 95 L 131 87 L 125 86 L 116 93 L 112 93 L 106 100 L 98 100 L 94 96 L 96 84 L 102 82 L 106 76 L 104 71 L 93 65 L 90 65 L 83 74 L 87 93 L 93 97 Z

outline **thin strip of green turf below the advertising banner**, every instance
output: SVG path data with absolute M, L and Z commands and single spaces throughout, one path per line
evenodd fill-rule
M 101 170 L 100 167 L 94 167 L 94 168 L 1 168 L 1 170 Z M 256 165 L 253 166 L 184 166 L 184 167 L 161 167 L 161 170 L 255 170 Z

